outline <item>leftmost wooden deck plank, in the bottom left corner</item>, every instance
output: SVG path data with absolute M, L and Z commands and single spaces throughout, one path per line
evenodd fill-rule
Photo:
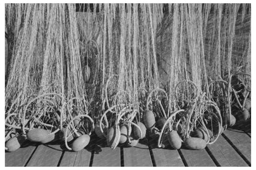
M 6 152 L 6 166 L 25 166 L 35 149 L 35 145 L 29 145 L 26 147 L 21 147 L 15 152 Z

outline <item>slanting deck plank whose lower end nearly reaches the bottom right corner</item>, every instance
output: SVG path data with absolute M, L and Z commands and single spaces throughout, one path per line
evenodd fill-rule
M 208 149 L 220 166 L 248 166 L 223 136 L 218 137 L 214 144 L 208 145 Z

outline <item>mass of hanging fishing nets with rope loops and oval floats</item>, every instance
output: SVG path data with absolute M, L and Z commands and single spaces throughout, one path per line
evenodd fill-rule
M 179 149 L 204 131 L 213 144 L 250 120 L 250 12 L 250 4 L 6 4 L 6 141 L 60 139 L 78 151 L 71 142 L 85 147 L 95 133 L 115 149 L 147 133 Z

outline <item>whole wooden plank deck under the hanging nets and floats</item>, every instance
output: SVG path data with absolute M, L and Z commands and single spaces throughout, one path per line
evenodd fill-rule
M 170 150 L 143 139 L 135 147 L 115 150 L 92 141 L 80 152 L 63 144 L 27 143 L 5 153 L 6 166 L 251 166 L 251 138 L 245 131 L 228 129 L 204 150 Z

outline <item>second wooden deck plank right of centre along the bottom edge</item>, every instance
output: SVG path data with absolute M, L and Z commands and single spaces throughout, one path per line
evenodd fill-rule
M 156 166 L 184 166 L 178 150 L 152 149 Z

